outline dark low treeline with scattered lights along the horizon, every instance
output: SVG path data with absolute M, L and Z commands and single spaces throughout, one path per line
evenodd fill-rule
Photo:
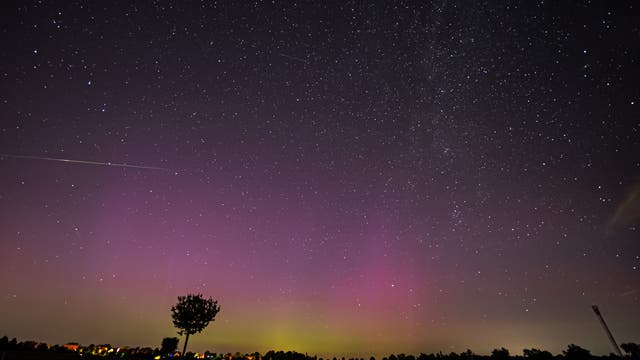
M 318 357 L 309 356 L 307 354 L 298 353 L 295 351 L 268 351 L 264 354 L 259 352 L 254 353 L 226 353 L 218 354 L 214 352 L 206 351 L 204 353 L 192 353 L 188 352 L 185 356 L 180 356 L 179 352 L 175 351 L 175 344 L 173 341 L 169 341 L 171 344 L 167 347 L 167 340 L 173 340 L 176 338 L 165 338 L 160 348 L 150 347 L 111 347 L 110 344 L 95 345 L 90 344 L 88 346 L 80 346 L 78 343 L 67 343 L 65 345 L 49 345 L 37 341 L 22 341 L 18 342 L 16 338 L 9 340 L 7 336 L 0 338 L 0 360 L 30 360 L 30 359 L 47 359 L 47 360 L 72 360 L 80 357 L 90 358 L 107 358 L 109 359 L 131 359 L 131 360 L 158 360 L 158 359 L 171 359 L 174 357 L 182 358 L 200 358 L 207 360 L 376 360 L 371 356 L 368 359 L 365 358 L 337 358 L 337 357 Z M 177 340 L 177 339 L 176 339 Z M 591 352 L 581 346 L 570 344 L 566 350 L 563 350 L 561 354 L 552 354 L 546 350 L 540 349 L 524 349 L 521 355 L 511 354 L 506 348 L 494 349 L 491 355 L 478 355 L 471 350 L 466 350 L 461 353 L 443 353 L 438 352 L 435 354 L 421 353 L 417 356 L 405 355 L 405 354 L 391 354 L 379 358 L 378 360 L 431 360 L 431 359 L 451 359 L 451 360 L 481 360 L 481 359 L 530 359 L 530 360 L 553 360 L 553 359 L 567 359 L 567 360 L 583 360 L 583 359 L 639 359 L 640 360 L 640 344 L 637 343 L 624 343 L 620 346 L 625 352 L 623 357 L 617 356 L 613 353 L 605 356 L 592 355 Z M 176 359 L 177 360 L 177 359 Z

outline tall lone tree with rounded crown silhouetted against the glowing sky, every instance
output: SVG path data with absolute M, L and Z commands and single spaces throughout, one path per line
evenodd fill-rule
M 218 301 L 211 297 L 205 299 L 202 294 L 178 296 L 178 303 L 171 307 L 171 318 L 173 326 L 179 329 L 178 334 L 186 335 L 182 356 L 186 354 L 189 335 L 202 332 L 209 322 L 215 320 L 218 311 Z

